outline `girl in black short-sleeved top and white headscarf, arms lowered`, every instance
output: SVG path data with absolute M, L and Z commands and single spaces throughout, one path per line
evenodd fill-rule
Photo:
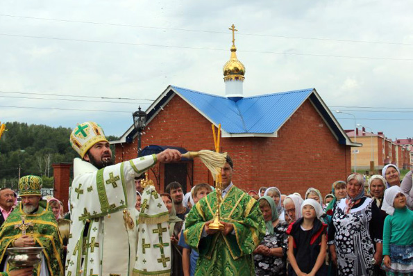
M 300 207 L 303 218 L 290 225 L 288 275 L 326 275 L 326 227 L 318 218 L 323 214 L 319 202 L 304 200 Z

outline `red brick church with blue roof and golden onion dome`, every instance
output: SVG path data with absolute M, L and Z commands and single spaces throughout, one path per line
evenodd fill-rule
M 234 40 L 233 40 L 234 42 Z M 181 152 L 214 149 L 211 124 L 221 124 L 221 152 L 234 162 L 233 182 L 245 190 L 276 186 L 281 193 L 319 188 L 351 172 L 352 143 L 312 89 L 244 97 L 245 67 L 231 47 L 224 65 L 226 97 L 168 86 L 146 110 L 142 155 L 167 147 Z M 131 126 L 115 144 L 117 163 L 137 157 L 137 131 Z M 158 190 L 179 181 L 189 190 L 212 177 L 199 160 L 158 164 L 150 178 Z

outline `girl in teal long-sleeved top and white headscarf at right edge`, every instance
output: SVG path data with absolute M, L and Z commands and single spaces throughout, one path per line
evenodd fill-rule
M 413 275 L 413 211 L 406 207 L 406 197 L 398 186 L 385 191 L 382 209 L 385 219 L 383 260 L 387 275 Z

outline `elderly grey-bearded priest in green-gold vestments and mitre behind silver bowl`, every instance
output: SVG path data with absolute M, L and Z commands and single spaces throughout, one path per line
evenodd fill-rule
M 7 261 L 7 248 L 44 247 L 42 262 L 34 268 L 33 275 L 63 275 L 62 239 L 49 204 L 40 193 L 42 179 L 28 175 L 19 179 L 19 196 L 22 202 L 10 213 L 0 229 L 0 259 L 3 271 L 19 275 Z

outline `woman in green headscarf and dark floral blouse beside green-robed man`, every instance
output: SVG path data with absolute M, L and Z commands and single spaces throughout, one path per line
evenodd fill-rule
M 259 200 L 267 232 L 254 250 L 256 275 L 286 275 L 287 222 L 278 218 L 274 200 L 264 195 Z

